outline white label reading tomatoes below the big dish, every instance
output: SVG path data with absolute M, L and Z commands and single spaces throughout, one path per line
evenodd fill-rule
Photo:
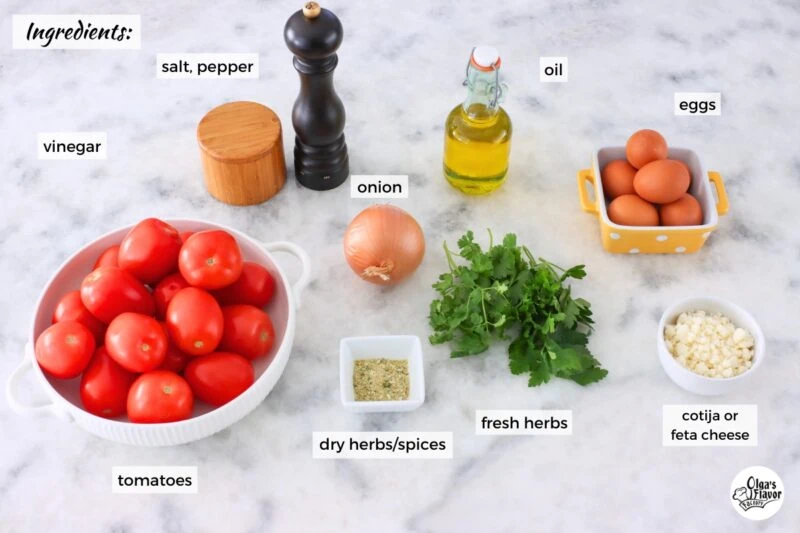
M 196 466 L 114 466 L 114 494 L 197 494 Z

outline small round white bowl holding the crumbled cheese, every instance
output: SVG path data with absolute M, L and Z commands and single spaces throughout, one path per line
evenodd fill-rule
M 731 319 L 737 327 L 748 330 L 753 335 L 753 366 L 749 370 L 732 378 L 708 378 L 695 374 L 688 368 L 681 365 L 672 357 L 667 350 L 664 342 L 664 329 L 667 324 L 674 324 L 678 320 L 678 315 L 686 311 L 708 311 L 712 313 L 722 313 Z M 676 385 L 684 390 L 700 394 L 703 396 L 716 396 L 732 392 L 746 383 L 749 383 L 755 375 L 758 367 L 764 361 L 766 353 L 764 334 L 758 326 L 758 322 L 744 309 L 722 298 L 713 296 L 698 296 L 686 298 L 669 307 L 661 316 L 658 323 L 658 333 L 656 343 L 658 346 L 658 358 L 664 372 Z

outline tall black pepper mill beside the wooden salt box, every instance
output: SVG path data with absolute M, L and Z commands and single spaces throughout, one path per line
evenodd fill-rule
M 344 105 L 333 88 L 342 23 L 316 2 L 297 11 L 283 29 L 300 74 L 300 94 L 292 108 L 294 172 L 301 185 L 317 191 L 338 187 L 350 174 L 344 142 Z

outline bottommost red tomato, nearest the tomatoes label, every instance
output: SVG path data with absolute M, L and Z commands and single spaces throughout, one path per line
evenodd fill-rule
M 128 392 L 131 422 L 157 424 L 192 416 L 194 396 L 186 380 L 175 372 L 153 370 L 139 376 Z

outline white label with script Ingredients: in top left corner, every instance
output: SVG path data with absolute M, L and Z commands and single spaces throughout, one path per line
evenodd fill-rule
M 138 50 L 139 15 L 13 15 L 11 46 L 17 50 Z

